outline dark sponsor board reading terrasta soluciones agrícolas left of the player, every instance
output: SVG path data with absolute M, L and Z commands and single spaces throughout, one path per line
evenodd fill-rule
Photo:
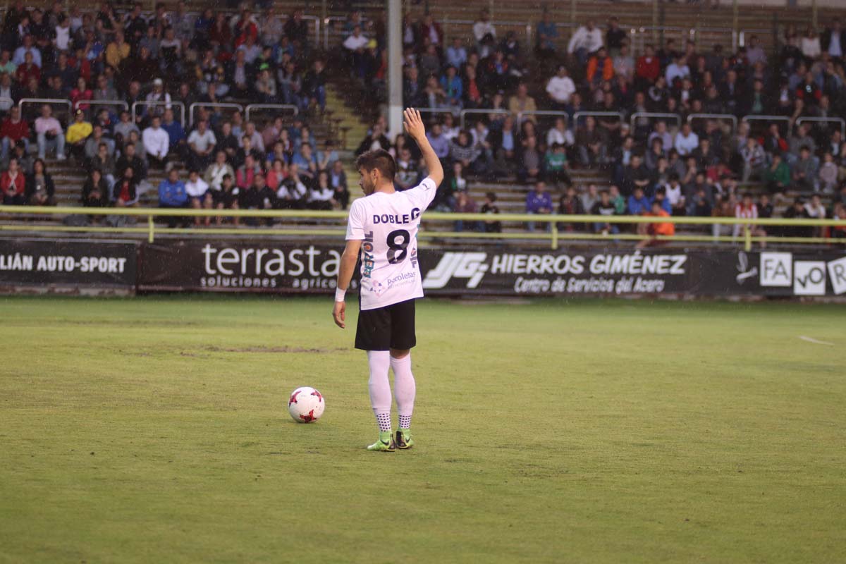
M 143 244 L 138 289 L 331 293 L 335 289 L 342 252 L 340 245 L 308 242 Z

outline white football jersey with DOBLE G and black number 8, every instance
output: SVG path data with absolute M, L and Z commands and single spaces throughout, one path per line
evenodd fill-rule
M 374 192 L 349 206 L 347 238 L 361 244 L 361 309 L 377 309 L 423 297 L 417 261 L 420 214 L 435 198 L 426 178 L 415 188 Z

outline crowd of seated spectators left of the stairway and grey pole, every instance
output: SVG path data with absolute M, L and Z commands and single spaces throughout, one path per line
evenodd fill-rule
M 151 169 L 164 169 L 162 207 L 345 208 L 338 152 L 309 128 L 325 107 L 326 78 L 302 11 L 283 18 L 250 6 L 230 16 L 189 14 L 184 2 L 172 12 L 158 3 L 153 14 L 141 3 L 125 14 L 111 3 L 96 12 L 14 3 L 0 28 L 3 203 L 54 205 L 44 160 L 55 154 L 85 168 L 86 206 L 138 205 L 156 189 Z M 63 104 L 27 104 L 20 115 L 21 98 L 68 100 L 72 116 L 59 115 Z M 299 114 L 265 123 L 222 107 L 190 115 L 194 102 L 226 101 L 288 104 Z M 124 102 L 142 104 L 134 114 Z

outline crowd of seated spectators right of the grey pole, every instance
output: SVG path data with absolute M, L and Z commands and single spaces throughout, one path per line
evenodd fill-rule
M 846 110 L 846 30 L 838 19 L 821 36 L 788 25 L 772 52 L 756 36 L 737 52 L 720 45 L 703 51 L 693 41 L 667 38 L 634 57 L 616 18 L 604 29 L 588 21 L 564 42 L 563 30 L 543 14 L 533 36 L 535 45 L 521 45 L 513 31 L 497 30 L 486 10 L 467 36 L 451 39 L 431 14 L 416 22 L 405 19 L 404 104 L 431 112 L 429 137 L 448 171 L 436 200 L 440 209 L 474 208 L 465 187 L 483 178 L 552 188 L 558 205 L 536 200 L 530 190 L 529 213 L 568 209 L 607 215 L 613 207 L 616 214 L 766 216 L 772 201 L 781 204 L 786 194 L 799 192 L 799 203 L 787 214 L 801 207 L 812 216 L 843 215 L 846 142 L 839 125 L 799 121 L 837 118 Z M 379 60 L 380 36 L 368 39 L 357 31 L 354 37 Z M 383 89 L 376 74 L 361 78 L 371 79 L 374 92 Z M 457 122 L 466 109 L 477 112 L 467 114 L 462 129 Z M 562 113 L 547 118 L 532 113 L 536 110 Z M 635 113 L 678 118 L 632 120 Z M 728 114 L 739 126 L 733 128 L 730 118 L 688 121 L 699 113 Z M 783 120 L 739 119 L 758 115 Z M 401 168 L 415 170 L 407 164 L 414 162 L 414 147 L 404 152 L 402 135 L 391 140 L 384 127 L 374 130 L 376 138 L 368 137 L 365 145 L 378 139 L 406 163 Z M 572 186 L 574 168 L 605 170 L 611 183 L 596 193 Z M 414 182 L 415 175 L 403 176 L 400 187 Z M 750 183 L 764 188 L 763 201 L 744 203 L 741 195 Z M 579 205 L 573 205 L 572 191 Z M 832 198 L 832 207 L 810 211 L 813 194 Z M 606 195 L 616 205 L 596 207 Z M 673 226 L 660 225 L 666 232 Z M 614 231 L 602 223 L 571 227 Z

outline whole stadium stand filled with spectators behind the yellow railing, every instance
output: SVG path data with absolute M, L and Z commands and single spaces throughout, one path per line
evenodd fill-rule
M 397 157 L 399 188 L 425 174 L 383 117 L 382 3 L 256 4 L 11 5 L 4 203 L 343 209 L 354 155 L 374 146 Z M 404 19 L 404 103 L 431 117 L 448 172 L 437 209 L 605 215 L 659 200 L 674 216 L 846 217 L 846 10 L 825 10 L 817 34 L 799 8 L 744 8 L 735 24 L 730 9 L 673 3 L 615 3 L 611 19 L 607 3 L 491 6 L 412 2 Z M 32 172 L 39 156 L 49 175 Z

